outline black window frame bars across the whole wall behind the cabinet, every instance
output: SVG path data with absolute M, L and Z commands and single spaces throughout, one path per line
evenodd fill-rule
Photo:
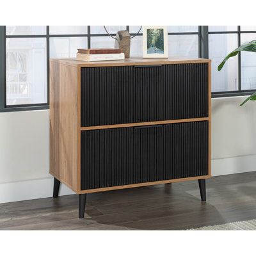
M 126 26 L 129 31 L 129 26 Z M 210 34 L 237 34 L 237 44 L 241 44 L 242 33 L 256 33 L 256 31 L 241 31 L 241 26 L 237 26 L 237 31 L 208 31 L 208 26 L 198 26 L 198 31 L 195 32 L 177 32 L 168 33 L 168 35 L 198 35 L 198 58 L 209 58 L 209 35 Z M 115 34 L 111 34 L 115 36 Z M 131 33 L 131 35 L 135 35 Z M 139 33 L 138 36 L 142 36 Z M 84 34 L 71 34 L 71 35 L 50 35 L 49 26 L 46 26 L 45 35 L 6 35 L 6 26 L 0 26 L 0 113 L 10 111 L 25 111 L 37 109 L 49 109 L 49 58 L 50 58 L 50 38 L 54 37 L 86 37 L 88 48 L 91 47 L 91 38 L 93 36 L 108 36 L 108 34 L 95 34 L 91 33 L 90 26 L 87 26 L 87 33 Z M 22 105 L 9 105 L 6 106 L 6 38 L 46 38 L 46 51 L 47 51 L 47 103 L 44 104 L 22 104 Z M 238 55 L 238 79 L 239 90 L 228 92 L 212 92 L 212 97 L 234 97 L 241 95 L 250 95 L 255 90 L 241 90 L 241 55 Z

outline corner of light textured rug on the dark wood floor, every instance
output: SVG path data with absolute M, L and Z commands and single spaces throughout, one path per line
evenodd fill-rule
M 193 228 L 189 230 L 256 230 L 256 220 L 237 221 L 222 225 Z

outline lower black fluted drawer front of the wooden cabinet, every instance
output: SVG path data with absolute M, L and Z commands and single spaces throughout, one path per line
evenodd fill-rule
M 81 189 L 208 174 L 208 122 L 81 132 Z

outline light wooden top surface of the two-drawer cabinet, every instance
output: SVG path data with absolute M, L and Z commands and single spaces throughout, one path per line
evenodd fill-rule
M 50 61 L 58 62 L 63 65 L 73 67 L 109 67 L 109 66 L 133 66 L 133 65 L 164 65 L 164 64 L 181 64 L 181 63 L 209 63 L 209 59 L 188 58 L 188 57 L 170 57 L 170 58 L 141 58 L 131 57 L 125 60 L 112 61 L 77 61 L 76 58 L 51 59 Z

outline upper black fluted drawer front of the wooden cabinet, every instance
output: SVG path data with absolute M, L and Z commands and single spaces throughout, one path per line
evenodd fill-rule
M 81 125 L 208 116 L 208 64 L 81 68 Z

